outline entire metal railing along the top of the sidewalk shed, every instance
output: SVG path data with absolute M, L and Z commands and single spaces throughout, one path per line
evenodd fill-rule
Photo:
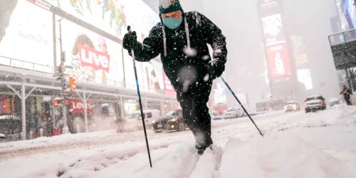
M 11 66 L 15 68 L 20 68 L 20 69 L 25 69 L 25 70 L 31 70 L 31 71 L 36 71 L 36 72 L 42 72 L 42 73 L 48 73 L 48 74 L 53 74 L 54 70 L 53 67 L 48 67 L 44 66 L 41 64 L 36 64 L 32 62 L 26 62 L 26 61 L 21 61 L 18 59 L 13 59 L 9 57 L 4 57 L 0 56 L 0 65 L 3 66 Z M 102 78 L 102 77 L 96 77 L 94 75 L 88 75 L 88 74 L 83 74 L 79 72 L 74 72 L 71 70 L 68 70 L 70 74 L 74 74 L 76 76 L 85 76 L 85 77 L 79 77 L 78 80 L 86 81 L 86 82 L 94 82 L 97 84 L 105 84 L 113 87 L 121 87 L 121 88 L 128 88 L 128 89 L 133 89 L 136 90 L 136 83 L 124 83 L 118 80 L 112 80 L 112 79 L 107 79 L 107 78 Z M 74 76 L 75 77 L 75 76 Z M 91 80 L 89 80 L 91 79 Z M 157 93 L 157 94 L 165 94 L 164 90 L 159 90 L 159 89 L 151 89 L 148 87 L 143 87 L 140 86 L 141 91 L 145 92 L 150 92 L 150 93 Z

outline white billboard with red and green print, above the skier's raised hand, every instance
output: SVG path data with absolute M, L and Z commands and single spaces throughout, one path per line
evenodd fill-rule
M 142 0 L 47 0 L 51 5 L 104 30 L 122 37 L 131 25 L 137 34 L 148 34 L 159 16 Z M 140 37 L 139 37 L 140 38 Z

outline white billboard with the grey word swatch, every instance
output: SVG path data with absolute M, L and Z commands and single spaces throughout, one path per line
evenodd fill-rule
M 0 56 L 16 60 L 10 64 L 10 59 L 1 58 L 0 64 L 52 72 L 52 13 L 28 1 L 18 1 L 10 19 L 0 20 L 0 28 L 5 23 L 9 26 L 0 41 Z

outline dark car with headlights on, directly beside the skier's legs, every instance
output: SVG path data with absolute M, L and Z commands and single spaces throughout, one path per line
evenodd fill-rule
M 153 132 L 168 131 L 184 131 L 187 128 L 184 124 L 182 110 L 174 110 L 168 112 L 163 117 L 155 119 L 152 121 Z

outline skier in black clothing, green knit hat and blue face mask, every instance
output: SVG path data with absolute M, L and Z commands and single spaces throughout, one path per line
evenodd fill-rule
M 136 60 L 148 62 L 161 54 L 164 72 L 177 92 L 185 124 L 195 136 L 198 154 L 213 144 L 206 103 L 213 80 L 225 70 L 226 38 L 220 28 L 199 12 L 184 12 L 179 0 L 160 0 L 157 23 L 143 43 L 127 33 L 123 47 Z M 207 44 L 213 48 L 213 59 Z

